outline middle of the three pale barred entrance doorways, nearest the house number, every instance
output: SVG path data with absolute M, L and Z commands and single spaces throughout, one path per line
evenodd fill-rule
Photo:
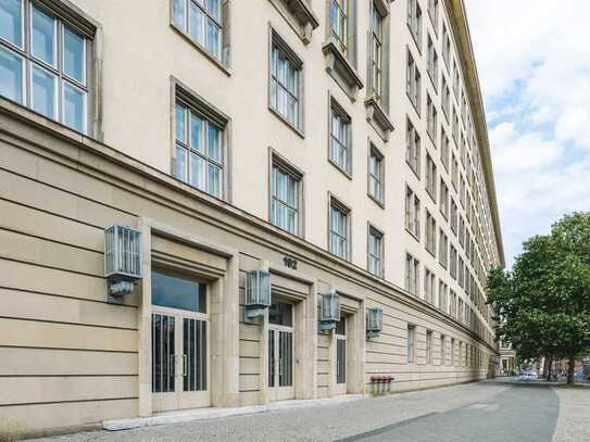
M 274 303 L 268 311 L 268 395 L 271 401 L 294 399 L 293 305 Z

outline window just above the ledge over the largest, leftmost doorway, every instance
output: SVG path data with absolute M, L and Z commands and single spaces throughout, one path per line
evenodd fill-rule
M 177 99 L 174 176 L 216 198 L 224 194 L 223 123 L 205 117 L 202 108 Z

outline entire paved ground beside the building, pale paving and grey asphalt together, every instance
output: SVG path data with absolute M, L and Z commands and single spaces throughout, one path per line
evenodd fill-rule
M 590 387 L 487 381 L 327 406 L 42 441 L 589 442 L 589 411 Z

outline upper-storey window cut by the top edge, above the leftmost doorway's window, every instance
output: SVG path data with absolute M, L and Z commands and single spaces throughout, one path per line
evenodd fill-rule
M 222 0 L 173 0 L 173 23 L 199 48 L 222 62 L 224 20 Z

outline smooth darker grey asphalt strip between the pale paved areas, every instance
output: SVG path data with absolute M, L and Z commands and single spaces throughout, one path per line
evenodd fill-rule
M 560 414 L 558 403 L 551 388 L 514 384 L 486 401 L 427 414 L 341 441 L 551 442 Z

